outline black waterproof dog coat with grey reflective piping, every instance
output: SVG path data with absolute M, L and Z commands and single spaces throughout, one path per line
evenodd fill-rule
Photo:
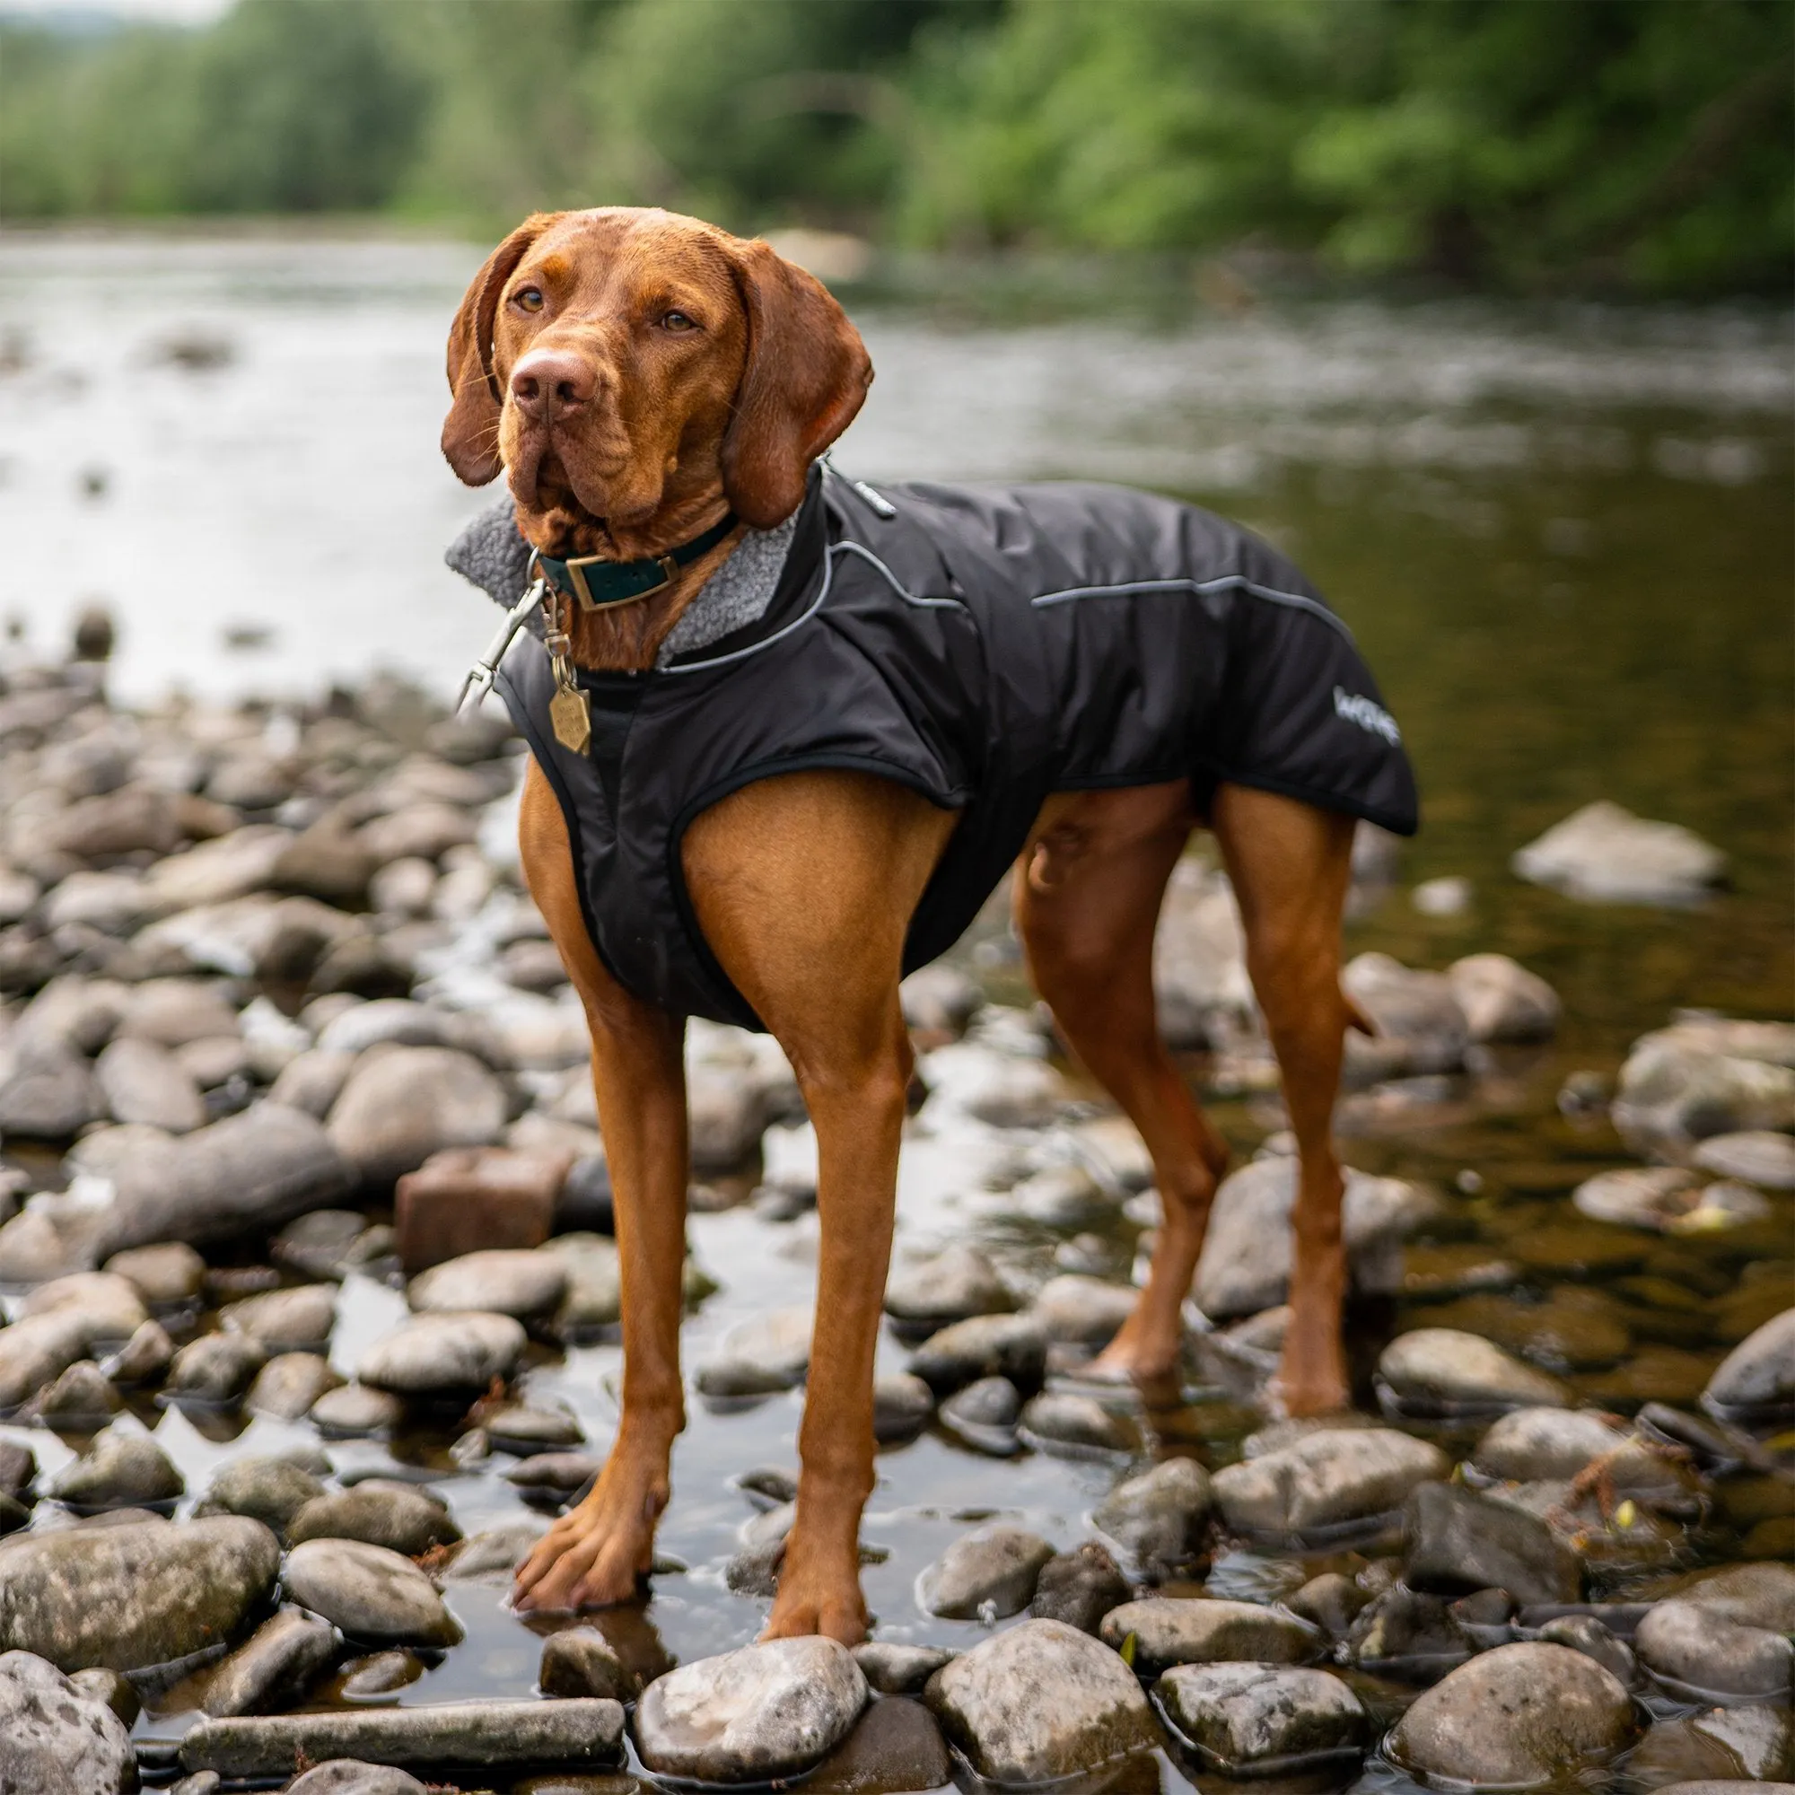
M 905 971 L 959 939 L 1052 792 L 1190 779 L 1203 810 L 1230 781 L 1414 833 L 1414 777 L 1346 626 L 1256 537 L 1116 486 L 880 490 L 890 517 L 815 468 L 754 623 L 646 673 L 580 671 L 583 754 L 549 727 L 540 641 L 506 657 L 497 687 L 628 991 L 761 1027 L 704 941 L 680 840 L 797 768 L 878 774 L 960 813 Z

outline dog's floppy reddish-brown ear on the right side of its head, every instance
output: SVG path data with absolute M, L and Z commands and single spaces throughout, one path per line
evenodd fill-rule
M 820 280 L 765 242 L 731 242 L 749 318 L 749 359 L 723 436 L 723 492 L 756 530 L 804 503 L 810 463 L 860 411 L 872 361 Z

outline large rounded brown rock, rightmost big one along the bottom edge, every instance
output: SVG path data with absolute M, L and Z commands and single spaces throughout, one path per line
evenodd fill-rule
M 1633 1732 L 1626 1689 L 1563 1646 L 1497 1646 L 1423 1691 L 1397 1721 L 1395 1761 L 1472 1788 L 1544 1782 L 1598 1764 Z

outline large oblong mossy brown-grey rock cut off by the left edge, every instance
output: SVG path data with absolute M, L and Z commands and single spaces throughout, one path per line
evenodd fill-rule
M 232 1639 L 273 1589 L 258 1520 L 131 1522 L 0 1542 L 0 1648 L 131 1671 Z

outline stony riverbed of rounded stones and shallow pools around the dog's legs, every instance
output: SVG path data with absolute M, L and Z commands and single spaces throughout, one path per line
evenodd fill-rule
M 741 1650 L 790 1522 L 815 1142 L 779 1052 L 704 1025 L 662 1558 L 639 1607 L 512 1616 L 619 1370 L 519 770 L 495 718 L 397 682 L 126 713 L 95 664 L 7 671 L 0 1788 L 1795 1773 L 1795 1027 L 1666 1014 L 1565 1068 L 1513 960 L 1359 955 L 1357 1407 L 1278 1422 L 1292 1161 L 1197 856 L 1161 1009 L 1237 1170 L 1181 1388 L 1079 1379 L 1158 1206 L 993 912 L 906 987 L 872 1644 Z M 1567 906 L 1682 903 L 1720 856 L 1598 808 L 1519 871 Z M 1355 910 L 1400 885 L 1362 840 Z M 1443 887 L 1413 901 L 1445 914 Z M 407 1280 L 395 1179 L 497 1145 L 560 1169 L 551 1239 Z

